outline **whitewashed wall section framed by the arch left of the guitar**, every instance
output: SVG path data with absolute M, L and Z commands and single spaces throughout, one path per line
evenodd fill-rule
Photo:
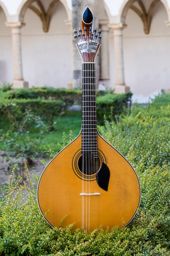
M 45 1 L 45 0 L 44 0 Z M 47 1 L 44 6 L 48 6 Z M 71 81 L 71 31 L 65 25 L 66 11 L 58 2 L 48 33 L 40 18 L 26 10 L 22 28 L 23 77 L 31 86 L 67 88 Z

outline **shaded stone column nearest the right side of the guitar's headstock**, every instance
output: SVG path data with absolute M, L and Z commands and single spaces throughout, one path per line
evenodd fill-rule
M 101 29 L 101 46 L 100 46 L 100 80 L 109 80 L 109 49 L 108 49 L 108 20 L 99 20 Z

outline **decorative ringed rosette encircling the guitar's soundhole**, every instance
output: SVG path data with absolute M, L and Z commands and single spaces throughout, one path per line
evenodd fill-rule
M 97 154 L 98 156 L 96 158 L 91 152 L 82 154 L 81 149 L 75 153 L 72 161 L 72 167 L 75 175 L 77 175 L 81 180 L 96 180 L 97 172 L 102 166 L 102 163 L 106 163 L 106 158 L 102 151 L 98 149 Z

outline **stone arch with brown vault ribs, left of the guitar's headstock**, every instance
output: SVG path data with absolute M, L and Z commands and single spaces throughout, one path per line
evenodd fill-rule
M 68 20 L 71 20 L 71 10 L 68 8 L 66 0 L 52 0 L 47 13 L 45 13 L 45 11 L 41 5 L 41 1 L 39 1 L 39 0 L 37 2 L 40 6 L 41 13 L 38 9 L 36 10 L 34 7 L 32 8 L 32 10 L 40 16 L 42 22 L 44 22 L 43 29 L 45 29 L 45 30 L 46 30 L 46 25 L 48 27 L 48 22 L 49 22 L 49 18 L 50 18 L 49 15 L 50 15 L 51 9 L 53 9 L 53 7 L 55 6 L 55 4 L 58 1 L 60 1 L 63 4 L 64 8 L 66 9 Z M 33 2 L 36 2 L 36 0 L 23 0 L 22 1 L 22 3 L 20 4 L 20 7 L 18 8 L 18 16 L 19 16 L 20 21 L 23 22 L 26 9 L 29 8 Z M 45 18 L 45 16 L 46 16 L 46 18 Z

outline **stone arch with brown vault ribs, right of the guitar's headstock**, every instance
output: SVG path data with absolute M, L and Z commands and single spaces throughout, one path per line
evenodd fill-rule
M 119 11 L 119 20 L 120 20 L 120 22 L 125 23 L 127 11 L 128 11 L 129 8 L 132 7 L 132 4 L 134 2 L 136 2 L 136 0 L 124 0 L 123 4 L 121 5 L 120 11 Z M 149 19 L 148 23 L 150 22 L 150 16 L 152 14 L 152 9 L 156 6 L 156 4 L 158 2 L 162 2 L 163 6 L 166 9 L 167 15 L 168 15 L 168 21 L 170 22 L 170 9 L 168 7 L 168 3 L 167 3 L 166 0 L 153 0 L 152 4 L 150 5 L 150 10 L 149 10 L 148 13 L 146 13 L 146 10 L 144 9 L 144 6 L 142 7 L 142 0 L 139 0 L 138 2 L 139 2 L 139 4 L 141 4 L 141 9 L 142 9 L 143 13 L 139 13 L 139 10 L 135 9 L 135 7 L 133 8 L 133 10 L 136 13 L 138 12 L 139 16 L 142 15 L 144 17 L 144 19 L 146 18 L 146 16 L 148 16 L 148 19 Z M 145 20 L 143 22 L 145 23 L 145 22 L 147 22 L 147 20 Z M 144 24 L 144 27 L 145 27 L 145 24 Z M 146 33 L 146 34 L 148 34 L 148 33 Z

